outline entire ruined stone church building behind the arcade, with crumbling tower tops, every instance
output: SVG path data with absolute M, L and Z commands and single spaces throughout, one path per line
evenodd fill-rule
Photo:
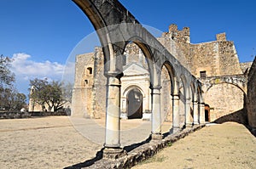
M 245 100 L 247 95 L 247 74 L 252 63 L 239 62 L 234 42 L 226 39 L 225 33 L 218 34 L 213 42 L 190 42 L 189 27 L 179 31 L 177 25 L 170 25 L 169 31 L 158 38 L 160 43 L 192 75 L 202 83 L 206 121 L 216 121 L 223 117 L 232 121 L 247 122 Z M 121 77 L 121 118 L 141 118 L 150 120 L 151 91 L 148 60 L 135 43 L 125 48 L 123 73 Z M 255 67 L 255 64 L 253 64 Z M 102 48 L 95 48 L 90 54 L 80 54 L 76 58 L 75 83 L 73 89 L 74 116 L 104 118 L 106 111 L 106 84 L 104 76 L 104 56 Z M 162 120 L 172 121 L 171 81 L 166 68 L 159 68 L 161 74 L 161 115 Z M 255 81 L 255 69 L 249 73 L 249 81 Z M 255 82 L 254 82 L 255 84 Z M 191 87 L 193 88 L 193 87 Z M 196 91 L 179 90 L 180 111 L 188 104 L 184 93 Z M 253 89 L 255 97 L 255 88 Z M 252 92 L 252 93 L 253 93 Z M 255 99 L 254 99 L 255 100 Z M 196 99 L 193 99 L 196 101 Z M 252 105 L 255 105 L 252 104 Z M 193 103 L 190 103 L 191 111 Z M 250 109 L 254 109 L 251 106 Z M 181 113 L 180 118 L 185 118 Z M 253 114 L 252 114 L 253 115 Z M 191 120 L 194 118 L 191 112 Z M 255 119 L 255 116 L 253 117 Z M 255 124 L 256 122 L 254 122 Z

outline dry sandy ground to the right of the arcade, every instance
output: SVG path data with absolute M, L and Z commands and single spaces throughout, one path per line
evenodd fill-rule
M 237 123 L 212 125 L 133 168 L 256 168 L 256 138 Z

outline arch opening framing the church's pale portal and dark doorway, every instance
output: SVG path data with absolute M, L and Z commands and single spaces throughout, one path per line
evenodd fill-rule
M 133 119 L 142 118 L 143 120 L 150 120 L 151 117 L 151 97 L 150 97 L 150 75 L 148 69 L 148 61 L 143 53 L 143 50 L 137 46 L 135 42 L 128 42 L 125 46 L 123 57 L 123 75 L 121 77 L 121 118 L 122 119 Z M 137 93 L 131 92 L 132 89 L 136 88 L 141 100 L 141 115 L 129 115 L 136 113 L 132 110 L 131 103 L 138 104 L 132 100 L 132 97 L 138 95 Z M 129 100 L 130 94 L 130 100 Z M 129 112 L 129 104 L 131 108 Z M 137 105 L 138 106 L 138 105 Z M 135 108 L 138 109 L 138 108 Z M 130 117 L 129 117 L 130 116 Z M 142 116 L 142 117 L 141 117 Z

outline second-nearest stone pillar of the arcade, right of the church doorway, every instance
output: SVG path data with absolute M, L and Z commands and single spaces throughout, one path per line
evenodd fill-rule
M 162 139 L 161 134 L 161 112 L 160 112 L 160 88 L 151 87 L 152 114 L 151 114 L 151 136 L 152 139 Z

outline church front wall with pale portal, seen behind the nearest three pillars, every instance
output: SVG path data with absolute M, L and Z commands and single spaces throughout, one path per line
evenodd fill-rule
M 88 118 L 105 118 L 106 84 L 104 76 L 104 57 L 101 48 L 95 48 L 94 53 L 81 54 L 76 59 L 76 75 L 73 89 L 72 115 Z M 91 72 L 90 72 L 91 70 Z M 122 119 L 151 118 L 151 91 L 148 64 L 135 43 L 125 48 L 123 57 L 123 73 L 121 77 L 120 110 Z M 163 100 L 169 106 L 163 106 L 162 119 L 172 121 L 171 82 L 168 71 L 162 74 L 164 89 Z M 163 89 L 162 89 L 163 90 Z M 167 105 L 167 104 L 166 104 Z

